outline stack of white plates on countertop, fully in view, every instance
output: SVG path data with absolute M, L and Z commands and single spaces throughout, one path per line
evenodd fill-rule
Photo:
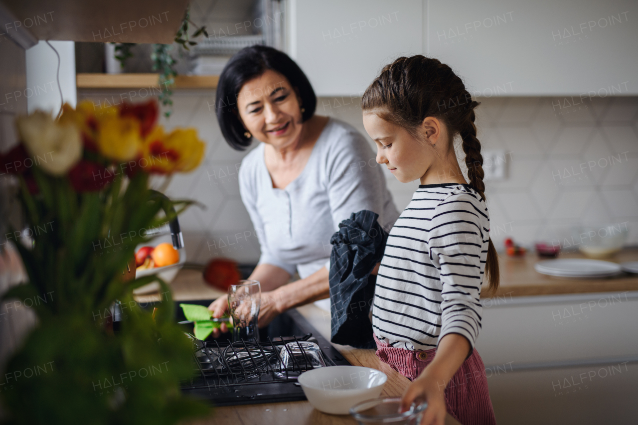
M 581 258 L 540 261 L 534 265 L 534 269 L 539 273 L 561 278 L 609 278 L 621 273 L 619 264 Z

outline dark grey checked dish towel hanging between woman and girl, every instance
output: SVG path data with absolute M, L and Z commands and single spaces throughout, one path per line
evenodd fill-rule
M 330 341 L 355 348 L 376 348 L 368 313 L 375 296 L 376 276 L 370 272 L 383 258 L 388 234 L 364 209 L 339 223 L 330 238 Z

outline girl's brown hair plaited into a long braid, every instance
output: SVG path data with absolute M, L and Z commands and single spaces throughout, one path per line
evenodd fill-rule
M 452 68 L 422 55 L 399 57 L 386 65 L 367 87 L 361 101 L 364 112 L 374 113 L 405 128 L 415 138 L 421 138 L 419 128 L 426 117 L 438 118 L 445 124 L 450 143 L 456 135 L 461 136 L 470 186 L 485 199 L 483 156 L 474 125 L 474 108 L 479 105 L 472 100 Z M 500 273 L 491 239 L 487 246 L 485 274 L 489 292 L 495 293 Z

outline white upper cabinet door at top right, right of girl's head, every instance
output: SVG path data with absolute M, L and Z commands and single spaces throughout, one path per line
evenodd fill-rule
M 479 96 L 638 94 L 635 0 L 429 0 L 426 25 Z

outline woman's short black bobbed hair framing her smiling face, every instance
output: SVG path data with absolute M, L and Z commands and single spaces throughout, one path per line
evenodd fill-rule
M 295 61 L 276 48 L 260 45 L 244 47 L 230 58 L 224 70 L 221 71 L 215 96 L 217 121 L 221 134 L 226 142 L 238 151 L 246 149 L 252 139 L 244 136 L 246 128 L 239 121 L 237 94 L 244 84 L 259 77 L 266 70 L 277 71 L 288 78 L 290 85 L 297 91 L 304 108 L 301 114 L 302 122 L 306 122 L 315 115 L 317 104 L 315 91 L 308 77 Z

